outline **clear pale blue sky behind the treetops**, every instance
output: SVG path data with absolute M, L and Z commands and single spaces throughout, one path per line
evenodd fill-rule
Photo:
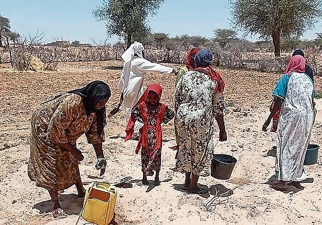
M 198 3 L 198 4 L 197 4 Z M 80 41 L 81 43 L 113 44 L 120 39 L 108 38 L 103 21 L 96 21 L 93 10 L 102 0 L 1 0 L 0 15 L 10 20 L 11 30 L 28 37 L 43 33 L 42 41 Z M 232 29 L 227 0 L 165 0 L 157 14 L 149 18 L 152 32 L 176 35 L 213 37 L 213 30 Z M 307 31 L 302 40 L 315 38 L 322 32 L 322 23 Z M 238 32 L 239 38 L 243 34 Z M 246 39 L 256 41 L 256 36 Z M 93 41 L 94 40 L 94 41 Z

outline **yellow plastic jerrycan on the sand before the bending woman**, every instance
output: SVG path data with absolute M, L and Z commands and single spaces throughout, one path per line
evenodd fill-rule
M 92 182 L 86 190 L 83 218 L 98 225 L 108 225 L 113 219 L 117 190 L 108 183 Z

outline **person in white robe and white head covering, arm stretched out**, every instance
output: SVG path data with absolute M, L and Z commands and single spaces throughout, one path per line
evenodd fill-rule
M 175 70 L 168 66 L 152 63 L 142 56 L 144 47 L 139 42 L 134 42 L 122 55 L 124 60 L 120 77 L 121 100 L 124 99 L 125 120 L 128 123 L 131 109 L 143 94 L 143 80 L 145 71 L 157 73 L 171 73 Z M 139 129 L 143 126 L 136 121 L 132 138 L 138 138 Z

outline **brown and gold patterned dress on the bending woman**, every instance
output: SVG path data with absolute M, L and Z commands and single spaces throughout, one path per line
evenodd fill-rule
M 105 141 L 104 132 L 98 136 L 96 114 L 86 115 L 82 97 L 77 94 L 63 94 L 34 110 L 28 176 L 36 186 L 57 191 L 75 183 L 80 177 L 79 161 L 58 145 L 76 145 L 84 133 L 89 144 Z

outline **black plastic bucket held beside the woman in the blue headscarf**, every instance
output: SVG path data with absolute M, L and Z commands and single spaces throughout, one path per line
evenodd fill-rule
M 211 162 L 211 176 L 220 180 L 229 179 L 236 162 L 233 156 L 214 154 Z

